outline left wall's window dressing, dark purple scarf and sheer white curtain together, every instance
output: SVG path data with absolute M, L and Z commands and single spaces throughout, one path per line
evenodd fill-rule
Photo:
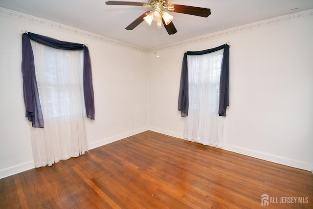
M 88 46 L 25 32 L 22 76 L 35 167 L 84 154 L 85 116 L 94 119 Z

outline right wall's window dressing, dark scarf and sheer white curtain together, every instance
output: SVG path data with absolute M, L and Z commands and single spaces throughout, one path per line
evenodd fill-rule
M 222 147 L 229 105 L 229 46 L 185 52 L 178 109 L 185 117 L 184 138 Z

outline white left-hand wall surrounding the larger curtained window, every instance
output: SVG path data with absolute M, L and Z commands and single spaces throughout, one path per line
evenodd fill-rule
M 0 178 L 34 167 L 22 94 L 21 30 L 89 44 L 95 98 L 95 120 L 87 120 L 89 149 L 147 130 L 145 50 L 52 21 L 2 11 Z

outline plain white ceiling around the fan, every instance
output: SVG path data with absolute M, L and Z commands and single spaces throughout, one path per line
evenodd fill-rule
M 0 0 L 0 7 L 80 28 L 143 48 L 155 47 L 155 27 L 146 22 L 126 30 L 149 8 L 106 5 L 107 0 Z M 126 0 L 127 1 L 127 0 Z M 128 0 L 148 2 L 148 0 Z M 169 3 L 211 9 L 208 18 L 171 13 L 178 30 L 158 32 L 159 45 L 179 42 L 220 30 L 313 9 L 313 0 L 169 0 Z M 297 8 L 297 9 L 295 9 Z M 22 28 L 27 30 L 27 28 Z

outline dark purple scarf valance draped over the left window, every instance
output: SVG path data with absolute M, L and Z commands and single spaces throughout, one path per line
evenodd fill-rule
M 94 120 L 94 95 L 92 85 L 89 49 L 83 44 L 63 42 L 50 37 L 34 34 L 22 34 L 22 77 L 26 117 L 33 127 L 44 127 L 44 119 L 39 102 L 33 49 L 30 40 L 46 46 L 63 50 L 84 50 L 84 98 L 87 117 Z

